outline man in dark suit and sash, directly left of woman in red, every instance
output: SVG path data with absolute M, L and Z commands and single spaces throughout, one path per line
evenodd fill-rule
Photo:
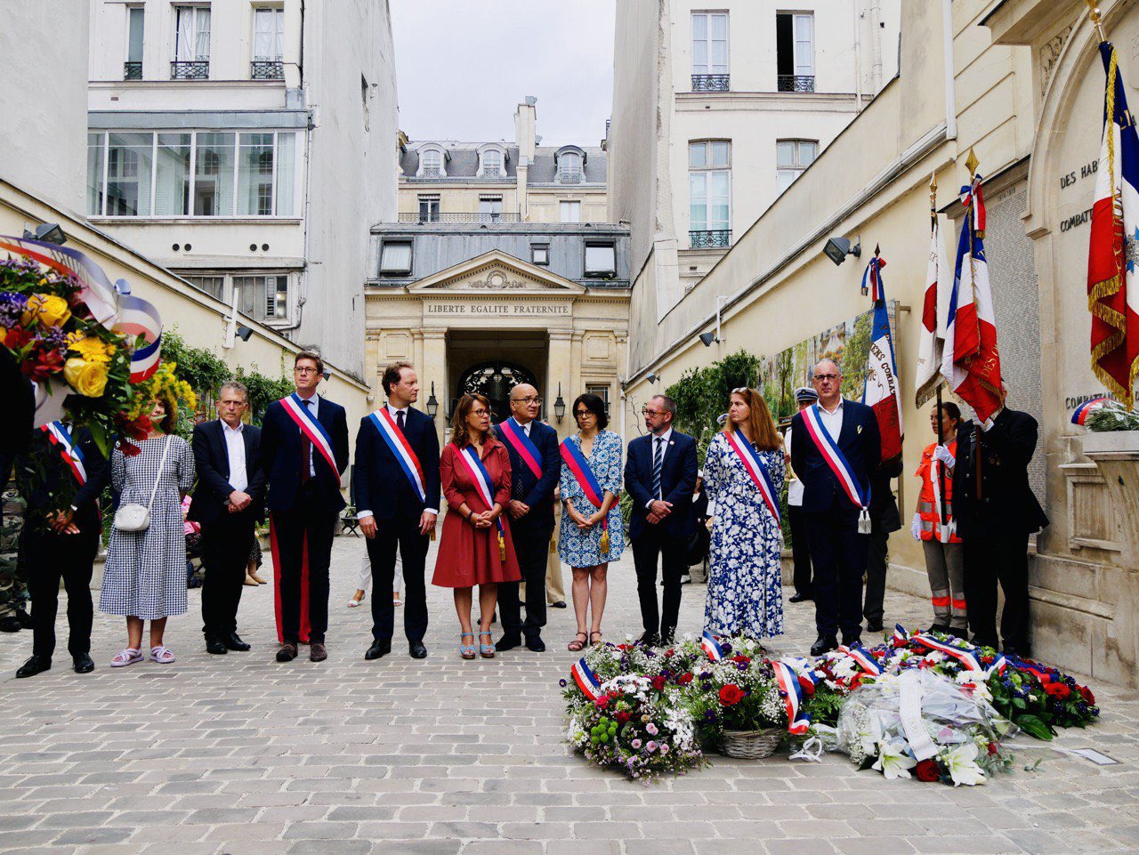
M 388 365 L 382 384 L 387 403 L 360 421 L 353 472 L 372 577 L 372 642 L 363 658 L 372 660 L 392 652 L 395 609 L 388 592 L 399 548 L 403 559 L 403 632 L 412 658 L 423 659 L 427 656 L 424 565 L 440 500 L 439 435 L 435 420 L 411 405 L 419 398 L 419 378 L 409 363 Z

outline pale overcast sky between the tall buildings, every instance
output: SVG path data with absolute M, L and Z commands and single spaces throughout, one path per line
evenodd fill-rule
M 514 139 L 538 97 L 542 145 L 597 145 L 613 100 L 616 0 L 391 0 L 400 128 L 412 140 Z

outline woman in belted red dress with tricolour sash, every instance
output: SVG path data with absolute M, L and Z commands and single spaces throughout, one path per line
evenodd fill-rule
M 470 631 L 470 605 L 478 585 L 478 648 L 484 659 L 494 658 L 491 618 L 498 602 L 499 582 L 518 582 L 518 560 L 510 540 L 509 520 L 502 508 L 510 501 L 510 455 L 490 435 L 491 405 L 482 395 L 464 395 L 454 408 L 451 442 L 439 461 L 446 498 L 443 537 L 435 559 L 433 584 L 454 589 L 459 613 L 459 655 L 475 658 Z M 486 638 L 487 643 L 482 643 Z

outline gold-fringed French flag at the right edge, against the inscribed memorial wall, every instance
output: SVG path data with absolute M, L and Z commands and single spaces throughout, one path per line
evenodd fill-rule
M 1099 55 L 1107 84 L 1088 249 L 1091 369 L 1130 410 L 1139 376 L 1139 134 L 1114 46 L 1103 42 Z

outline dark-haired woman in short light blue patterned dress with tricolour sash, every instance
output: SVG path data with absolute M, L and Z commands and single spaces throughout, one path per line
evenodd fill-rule
M 573 416 L 579 431 L 566 438 L 589 463 L 603 491 L 598 509 L 585 498 L 585 491 L 573 470 L 562 459 L 562 528 L 558 533 L 558 557 L 573 568 L 573 610 L 577 617 L 577 634 L 568 649 L 581 650 L 601 641 L 601 615 L 608 590 L 606 574 L 609 561 L 621 558 L 625 548 L 624 523 L 617 499 L 621 495 L 621 437 L 606 430 L 608 418 L 605 402 L 597 395 L 579 395 L 573 402 Z M 606 520 L 606 527 L 601 521 Z M 608 532 L 609 548 L 601 550 L 603 534 Z M 589 618 L 592 618 L 590 620 Z

